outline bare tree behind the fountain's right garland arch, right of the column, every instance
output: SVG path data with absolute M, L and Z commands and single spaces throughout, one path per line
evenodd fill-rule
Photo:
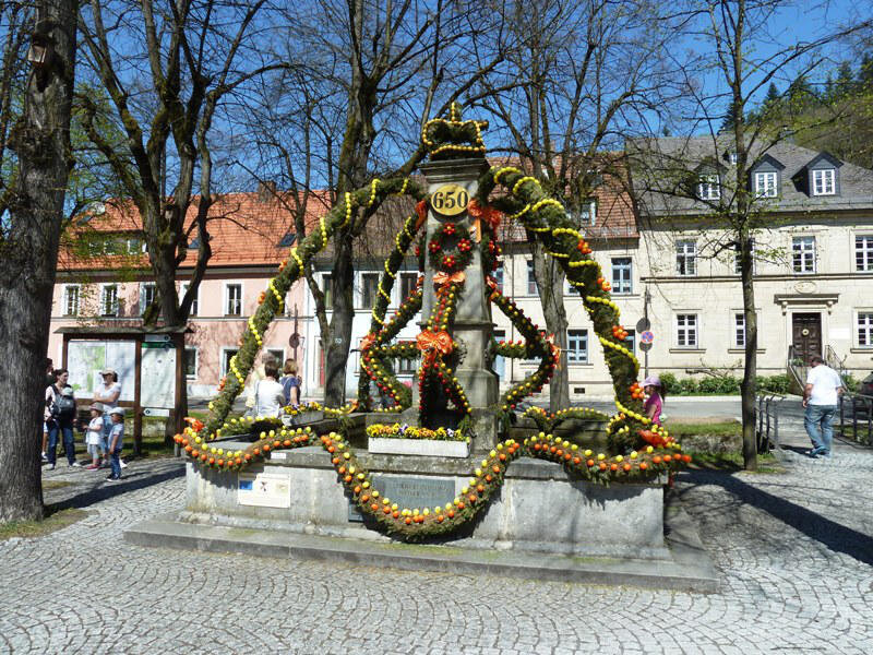
M 590 203 L 603 184 L 613 192 L 624 188 L 623 139 L 646 133 L 674 96 L 665 44 L 675 38 L 682 17 L 647 0 L 515 2 L 507 11 L 518 41 L 511 51 L 516 85 L 492 88 L 482 104 L 505 126 L 509 150 L 523 168 L 586 236 L 602 239 L 608 213 L 595 219 Z M 549 388 L 555 410 L 570 404 L 564 274 L 536 239 L 530 242 L 546 325 L 561 346 Z

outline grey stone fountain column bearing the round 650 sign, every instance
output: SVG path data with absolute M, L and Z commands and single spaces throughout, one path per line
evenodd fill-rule
M 433 193 L 443 184 L 454 183 L 466 189 L 469 198 L 474 198 L 478 190 L 478 178 L 487 168 L 488 163 L 485 158 L 476 158 L 433 162 L 420 166 L 419 170 L 427 180 L 429 193 Z M 427 251 L 427 243 L 440 224 L 450 221 L 470 231 L 474 228 L 473 221 L 466 212 L 444 217 L 429 209 L 424 241 L 427 259 L 421 303 L 422 326 L 436 302 L 433 287 L 434 271 L 431 265 L 431 253 Z M 464 270 L 464 290 L 457 306 L 452 331 L 452 338 L 465 349 L 464 358 L 455 374 L 473 407 L 475 432 L 473 446 L 476 452 L 489 450 L 497 439 L 493 414 L 486 412 L 486 408 L 495 405 L 500 397 L 500 381 L 497 373 L 491 370 L 488 357 L 494 324 L 491 321 L 491 303 L 488 300 L 489 289 L 485 282 L 487 273 L 488 271 L 482 267 L 481 253 L 478 248 L 475 248 L 473 260 Z M 412 403 L 416 410 L 418 401 L 418 388 L 414 386 Z

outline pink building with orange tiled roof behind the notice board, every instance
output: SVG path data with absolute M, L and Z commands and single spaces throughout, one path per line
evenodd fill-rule
M 290 218 L 276 211 L 273 203 L 261 201 L 255 194 L 230 198 L 231 201 L 226 200 L 216 213 L 226 212 L 228 203 L 234 202 L 237 216 L 211 226 L 213 257 L 200 284 L 184 337 L 184 369 L 191 398 L 211 397 L 216 393 L 220 379 L 227 373 L 229 359 L 238 349 L 247 319 L 258 308 L 259 296 L 297 242 L 296 236 L 287 229 Z M 94 231 L 87 238 L 94 239 L 94 234 L 105 236 L 103 245 L 94 248 L 87 258 L 73 254 L 71 249 L 60 257 L 47 353 L 56 367 L 63 364 L 63 337 L 59 329 L 142 325 L 142 314 L 155 294 L 136 221 L 112 215 L 88 224 Z M 193 259 L 192 252 L 190 260 Z M 186 289 L 190 274 L 190 265 L 179 267 L 177 289 L 180 293 Z M 264 352 L 272 353 L 279 362 L 296 357 L 302 365 L 307 348 L 303 312 L 303 283 L 297 282 L 286 295 L 282 315 L 276 317 L 264 335 Z M 300 336 L 291 340 L 296 331 Z M 71 379 L 73 386 L 83 391 L 93 389 L 92 369 L 103 366 L 124 369 L 123 362 L 112 361 L 111 350 L 106 349 L 104 364 L 95 360 L 74 367 L 75 362 L 68 361 L 71 374 L 76 370 L 83 378 Z M 89 352 L 97 350 L 91 348 Z

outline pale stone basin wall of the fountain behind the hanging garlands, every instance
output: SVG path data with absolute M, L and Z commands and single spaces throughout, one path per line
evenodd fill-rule
M 234 444 L 227 444 L 234 448 Z M 284 455 L 277 457 L 276 455 Z M 182 521 L 241 528 L 391 541 L 368 528 L 324 451 L 303 448 L 275 453 L 244 476 L 189 463 Z M 475 455 L 473 457 L 475 460 Z M 383 483 L 449 488 L 467 484 L 471 462 L 439 457 L 359 453 L 360 464 Z M 264 477 L 282 493 L 268 504 L 240 502 L 240 481 Z M 397 498 L 397 500 L 402 500 Z M 284 501 L 284 502 L 283 502 Z M 602 487 L 572 480 L 558 464 L 522 457 L 507 468 L 499 496 L 474 524 L 461 528 L 453 546 L 512 549 L 589 557 L 668 559 L 663 543 L 662 480 Z

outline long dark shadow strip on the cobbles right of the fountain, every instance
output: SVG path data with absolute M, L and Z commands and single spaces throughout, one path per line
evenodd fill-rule
M 820 541 L 830 550 L 845 552 L 859 562 L 873 565 L 873 538 L 869 535 L 830 521 L 784 498 L 762 491 L 731 475 L 695 472 L 690 477 L 696 485 L 722 487 L 739 501 L 764 510 L 774 519 Z

